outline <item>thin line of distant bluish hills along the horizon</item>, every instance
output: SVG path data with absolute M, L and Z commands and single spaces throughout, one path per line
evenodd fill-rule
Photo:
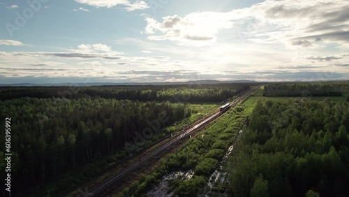
M 1 84 L 0 87 L 5 86 L 107 86 L 107 85 L 200 85 L 200 84 L 222 84 L 222 83 L 252 83 L 257 82 L 254 80 L 230 80 L 230 81 L 220 81 L 220 80 L 196 80 L 187 82 L 123 82 L 123 83 L 113 83 L 113 82 L 88 82 L 88 83 L 18 83 L 18 84 Z

